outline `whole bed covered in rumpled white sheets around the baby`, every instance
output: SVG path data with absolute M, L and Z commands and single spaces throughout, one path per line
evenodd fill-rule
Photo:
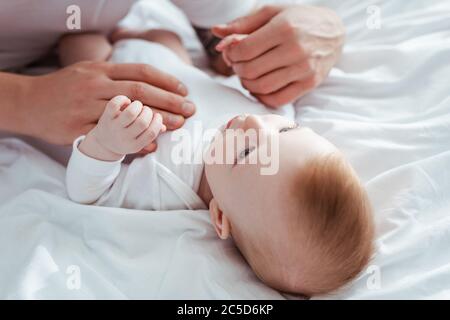
M 313 299 L 450 298 L 450 2 L 306 2 L 340 14 L 347 44 L 294 117 L 344 151 L 376 221 L 367 269 Z M 297 298 L 262 284 L 207 212 L 75 204 L 64 176 L 44 152 L 0 140 L 0 298 Z

